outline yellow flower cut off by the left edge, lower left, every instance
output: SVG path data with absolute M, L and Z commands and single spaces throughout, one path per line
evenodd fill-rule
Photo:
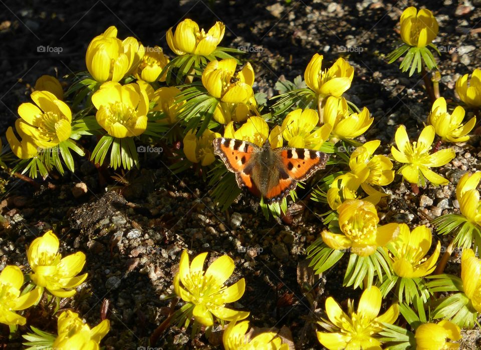
M 32 306 L 42 295 L 40 288 L 20 295 L 22 284 L 24 284 L 24 275 L 20 268 L 14 265 L 5 266 L 0 273 L 0 323 L 24 325 L 25 317 L 14 311 Z

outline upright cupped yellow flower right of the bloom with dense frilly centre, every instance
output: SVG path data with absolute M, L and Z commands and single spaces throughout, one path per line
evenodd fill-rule
M 399 277 L 423 277 L 434 271 L 441 250 L 437 242 L 434 252 L 429 258 L 426 254 L 431 248 L 431 231 L 424 225 L 409 231 L 406 224 L 399 225 L 399 235 L 388 244 L 392 268 Z

